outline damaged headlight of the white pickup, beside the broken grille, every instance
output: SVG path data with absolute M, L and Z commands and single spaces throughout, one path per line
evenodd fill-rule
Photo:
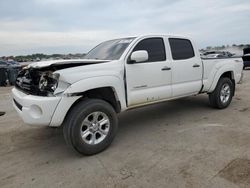
M 49 92 L 53 93 L 57 86 L 58 86 L 58 79 L 59 79 L 58 73 L 52 73 L 52 72 L 44 72 L 42 73 L 40 80 L 39 80 L 39 89 L 41 92 Z

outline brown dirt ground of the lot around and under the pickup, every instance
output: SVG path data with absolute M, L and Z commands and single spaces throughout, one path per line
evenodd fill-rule
M 207 95 L 131 110 L 103 153 L 80 156 L 62 129 L 25 125 L 0 88 L 0 187 L 250 187 L 250 70 L 232 104 Z

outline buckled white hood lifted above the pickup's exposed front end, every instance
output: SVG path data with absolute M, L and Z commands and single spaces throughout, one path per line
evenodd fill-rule
M 46 67 L 53 67 L 56 70 L 81 66 L 85 64 L 95 64 L 95 63 L 104 63 L 108 62 L 109 60 L 96 60 L 96 59 L 70 59 L 70 60 L 51 60 L 51 61 L 40 61 L 31 63 L 28 65 L 28 68 L 36 68 L 42 69 Z

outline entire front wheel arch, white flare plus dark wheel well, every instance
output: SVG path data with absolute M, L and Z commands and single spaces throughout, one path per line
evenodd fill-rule
M 116 76 L 101 76 L 84 79 L 72 84 L 62 97 L 52 117 L 50 126 L 63 124 L 71 109 L 87 98 L 97 98 L 108 102 L 119 113 L 126 109 L 124 84 Z

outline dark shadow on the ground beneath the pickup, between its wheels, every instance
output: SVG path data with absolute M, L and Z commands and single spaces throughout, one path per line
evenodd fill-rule
M 119 140 L 136 128 L 157 127 L 159 125 L 184 125 L 185 120 L 206 119 L 207 113 L 215 111 L 209 106 L 208 96 L 186 97 L 159 104 L 132 109 L 119 115 Z

